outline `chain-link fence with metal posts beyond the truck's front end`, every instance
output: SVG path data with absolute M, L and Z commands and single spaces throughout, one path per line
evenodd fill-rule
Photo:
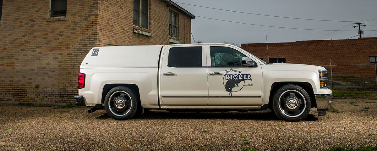
M 326 68 L 329 87 L 377 87 L 377 63 L 359 65 L 330 65 Z M 330 70 L 331 69 L 331 70 Z

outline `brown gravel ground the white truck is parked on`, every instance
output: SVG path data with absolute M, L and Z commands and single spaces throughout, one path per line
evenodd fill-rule
M 350 104 L 349 102 L 357 102 Z M 374 102 L 374 103 L 365 103 Z M 375 146 L 377 99 L 334 99 L 300 122 L 285 122 L 271 111 L 168 112 L 151 110 L 116 121 L 104 110 L 19 106 L 0 101 L 0 150 L 238 150 L 255 146 L 281 150 L 324 150 L 334 146 Z M 370 109 L 365 109 L 368 107 Z M 245 145 L 241 136 L 250 144 Z

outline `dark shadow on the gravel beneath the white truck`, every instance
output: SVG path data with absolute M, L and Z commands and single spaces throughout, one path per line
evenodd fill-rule
M 303 121 L 316 121 L 318 118 L 312 113 Z M 109 119 L 107 114 L 96 119 Z M 169 112 L 151 110 L 130 120 L 162 120 L 162 119 L 234 119 L 234 120 L 281 120 L 272 111 L 249 111 L 249 112 Z

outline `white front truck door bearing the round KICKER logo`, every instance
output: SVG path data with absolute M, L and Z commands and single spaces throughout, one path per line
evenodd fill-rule
M 228 45 L 207 45 L 208 105 L 261 105 L 262 68 L 244 50 Z M 253 67 L 242 65 L 249 57 Z

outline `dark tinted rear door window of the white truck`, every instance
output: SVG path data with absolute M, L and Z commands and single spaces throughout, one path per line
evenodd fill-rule
M 168 66 L 201 67 L 202 47 L 175 47 L 169 49 Z

